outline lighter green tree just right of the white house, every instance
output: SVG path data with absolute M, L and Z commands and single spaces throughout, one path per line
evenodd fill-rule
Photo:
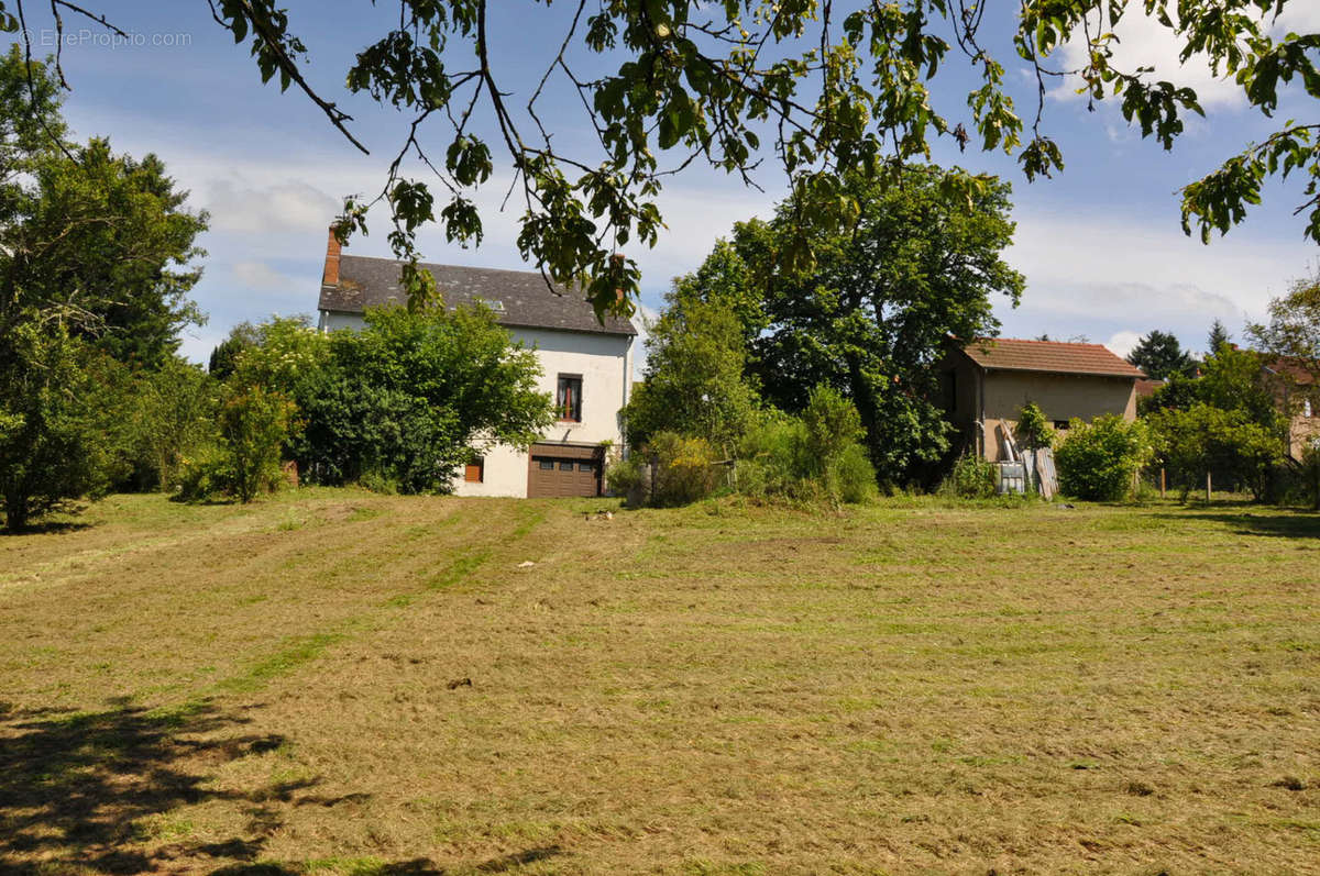
M 717 247 L 717 253 L 723 260 L 725 248 Z M 710 290 L 700 273 L 675 282 L 669 306 L 649 328 L 645 380 L 623 410 L 632 446 L 673 431 L 704 438 L 731 455 L 756 410 L 756 391 L 743 375 L 743 323 L 727 297 L 697 294 Z

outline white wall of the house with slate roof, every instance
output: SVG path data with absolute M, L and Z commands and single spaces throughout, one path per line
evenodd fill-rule
M 362 328 L 362 314 L 321 311 L 322 331 Z M 619 410 L 628 404 L 632 388 L 634 336 L 607 335 L 554 328 L 506 326 L 515 340 L 536 350 L 541 361 L 537 388 L 554 398 L 560 375 L 582 379 L 581 422 L 558 422 L 541 441 L 566 445 L 598 445 L 603 441 L 623 446 Z M 459 496 L 527 496 L 527 449 L 495 446 L 484 454 L 482 483 L 463 479 L 459 470 L 454 492 Z

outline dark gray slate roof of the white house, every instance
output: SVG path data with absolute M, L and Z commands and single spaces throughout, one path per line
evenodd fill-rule
M 607 315 L 605 325 L 581 294 L 557 286 L 556 294 L 533 270 L 495 270 L 457 265 L 422 264 L 436 277 L 445 305 L 455 307 L 479 298 L 495 307 L 502 325 L 524 328 L 557 328 L 609 335 L 635 335 L 636 328 L 622 317 Z M 503 311 L 495 305 L 504 306 Z M 339 256 L 339 285 L 321 286 L 321 310 L 362 313 L 367 307 L 407 303 L 399 288 L 399 263 L 367 256 Z

